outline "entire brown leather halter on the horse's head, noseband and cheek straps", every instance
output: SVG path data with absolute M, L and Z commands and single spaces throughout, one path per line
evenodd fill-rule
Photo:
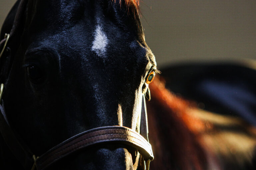
M 43 155 L 37 157 L 38 155 L 35 156 L 15 130 L 10 127 L 4 110 L 4 101 L 1 100 L 1 97 L 4 87 L 3 83 L 5 83 L 8 78 L 9 69 L 12 64 L 11 61 L 14 57 L 11 54 L 12 45 L 9 45 L 9 42 L 12 41 L 12 37 L 17 29 L 20 15 L 26 6 L 25 2 L 26 0 L 21 0 L 13 28 L 10 34 L 6 34 L 5 38 L 0 42 L 0 50 L 2 49 L 0 53 L 1 65 L 5 67 L 1 71 L 0 82 L 2 83 L 0 87 L 0 101 L 2 102 L 0 104 L 0 132 L 11 152 L 25 169 L 31 169 L 32 167 L 32 170 L 44 170 L 54 162 L 76 152 L 77 150 L 102 143 L 119 143 L 136 148 L 142 155 L 141 158 L 144 169 L 148 170 L 149 163 L 154 159 L 154 156 L 152 147 L 148 141 L 147 111 L 144 95 L 141 109 L 140 133 L 132 130 L 131 128 L 122 126 L 93 128 L 63 141 L 45 152 Z

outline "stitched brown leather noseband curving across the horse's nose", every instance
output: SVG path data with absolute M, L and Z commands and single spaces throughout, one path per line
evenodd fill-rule
M 88 146 L 99 143 L 124 143 L 139 150 L 145 160 L 153 160 L 150 143 L 136 131 L 120 126 L 94 128 L 77 134 L 53 147 L 36 160 L 37 170 L 43 170 L 59 159 Z

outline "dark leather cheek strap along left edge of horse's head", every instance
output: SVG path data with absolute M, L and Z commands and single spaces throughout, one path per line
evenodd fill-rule
M 12 40 L 12 37 L 17 33 L 17 29 L 19 29 L 21 18 L 23 17 L 23 13 L 25 11 L 27 0 L 20 0 L 17 9 L 17 13 L 15 15 L 13 27 L 10 31 L 10 37 L 9 41 L 7 43 L 7 46 L 4 48 L 4 44 L 6 42 L 6 38 L 4 38 L 0 42 L 0 52 L 2 53 L 1 56 L 1 74 L 0 74 L 0 83 L 5 83 L 6 79 L 8 77 L 10 67 L 11 67 L 11 58 L 12 56 L 11 49 L 15 44 L 17 43 L 17 40 Z M 2 51 L 3 49 L 3 51 Z M 10 127 L 10 124 L 8 122 L 7 116 L 4 111 L 3 102 L 2 105 L 0 105 L 0 132 L 13 153 L 13 155 L 17 158 L 17 160 L 23 165 L 25 169 L 30 169 L 33 165 L 33 159 L 32 159 L 32 153 L 30 152 L 30 149 L 27 147 L 27 145 L 24 144 L 23 140 L 19 137 L 19 135 Z

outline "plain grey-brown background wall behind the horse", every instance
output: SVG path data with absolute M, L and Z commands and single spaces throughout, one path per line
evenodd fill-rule
M 0 0 L 0 25 L 16 0 Z M 160 67 L 256 59 L 255 0 L 141 0 L 146 42 Z

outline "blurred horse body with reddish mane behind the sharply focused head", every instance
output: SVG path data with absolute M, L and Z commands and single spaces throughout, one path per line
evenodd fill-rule
M 189 69 L 189 66 L 185 68 L 184 66 L 168 67 L 163 69 L 162 77 L 158 76 L 150 84 L 152 100 L 147 103 L 149 138 L 156 157 L 151 164 L 152 169 L 255 169 L 256 128 L 252 121 L 245 121 L 245 118 L 235 114 L 224 114 L 225 109 L 220 108 L 225 108 L 225 103 L 218 105 L 207 98 L 200 101 L 198 96 L 193 98 L 193 95 L 190 95 L 190 99 L 200 102 L 205 100 L 204 103 L 211 106 L 206 106 L 206 110 L 202 110 L 200 106 L 202 103 L 198 105 L 193 100 L 185 100 L 181 97 L 181 94 L 188 96 L 185 91 L 190 90 L 190 93 L 193 93 L 193 87 L 196 91 L 195 87 L 200 84 L 200 81 L 211 78 L 209 74 L 205 73 L 205 70 L 215 75 L 215 82 L 225 77 L 225 81 L 230 83 L 229 79 L 234 81 L 234 77 L 236 77 L 238 81 L 231 87 L 236 87 L 241 82 L 246 82 L 245 85 L 251 86 L 254 83 L 253 78 L 248 79 L 242 75 L 247 75 L 247 73 L 254 75 L 255 70 L 234 64 L 225 66 L 215 64 L 212 67 L 201 65 L 201 67 L 204 71 L 199 71 L 198 65 L 196 68 L 193 67 L 194 69 Z M 188 69 L 186 70 L 186 68 Z M 215 69 L 213 70 L 213 68 Z M 235 74 L 238 71 L 234 71 L 232 75 L 229 74 L 230 70 L 234 70 L 234 68 L 243 71 L 240 74 Z M 198 71 L 198 74 L 195 70 Z M 205 76 L 202 75 L 202 72 Z M 183 77 L 187 79 L 181 80 Z M 197 84 L 191 81 L 193 78 L 197 80 Z M 177 82 L 177 79 L 180 82 Z M 189 86 L 191 87 L 188 90 Z M 168 90 L 170 88 L 176 90 L 177 95 Z M 211 92 L 210 89 L 201 88 L 201 90 Z M 238 92 L 239 90 L 237 90 Z M 196 94 L 199 95 L 200 92 L 197 91 Z M 255 93 L 250 94 L 255 95 Z M 235 100 L 236 94 L 229 95 L 233 96 L 232 99 Z M 239 96 L 241 97 L 240 94 Z M 215 110 L 222 112 L 218 114 L 207 111 L 214 104 Z M 248 102 L 245 104 L 248 105 Z M 228 106 L 226 108 L 231 110 L 232 107 Z M 244 113 L 246 114 L 246 112 Z

